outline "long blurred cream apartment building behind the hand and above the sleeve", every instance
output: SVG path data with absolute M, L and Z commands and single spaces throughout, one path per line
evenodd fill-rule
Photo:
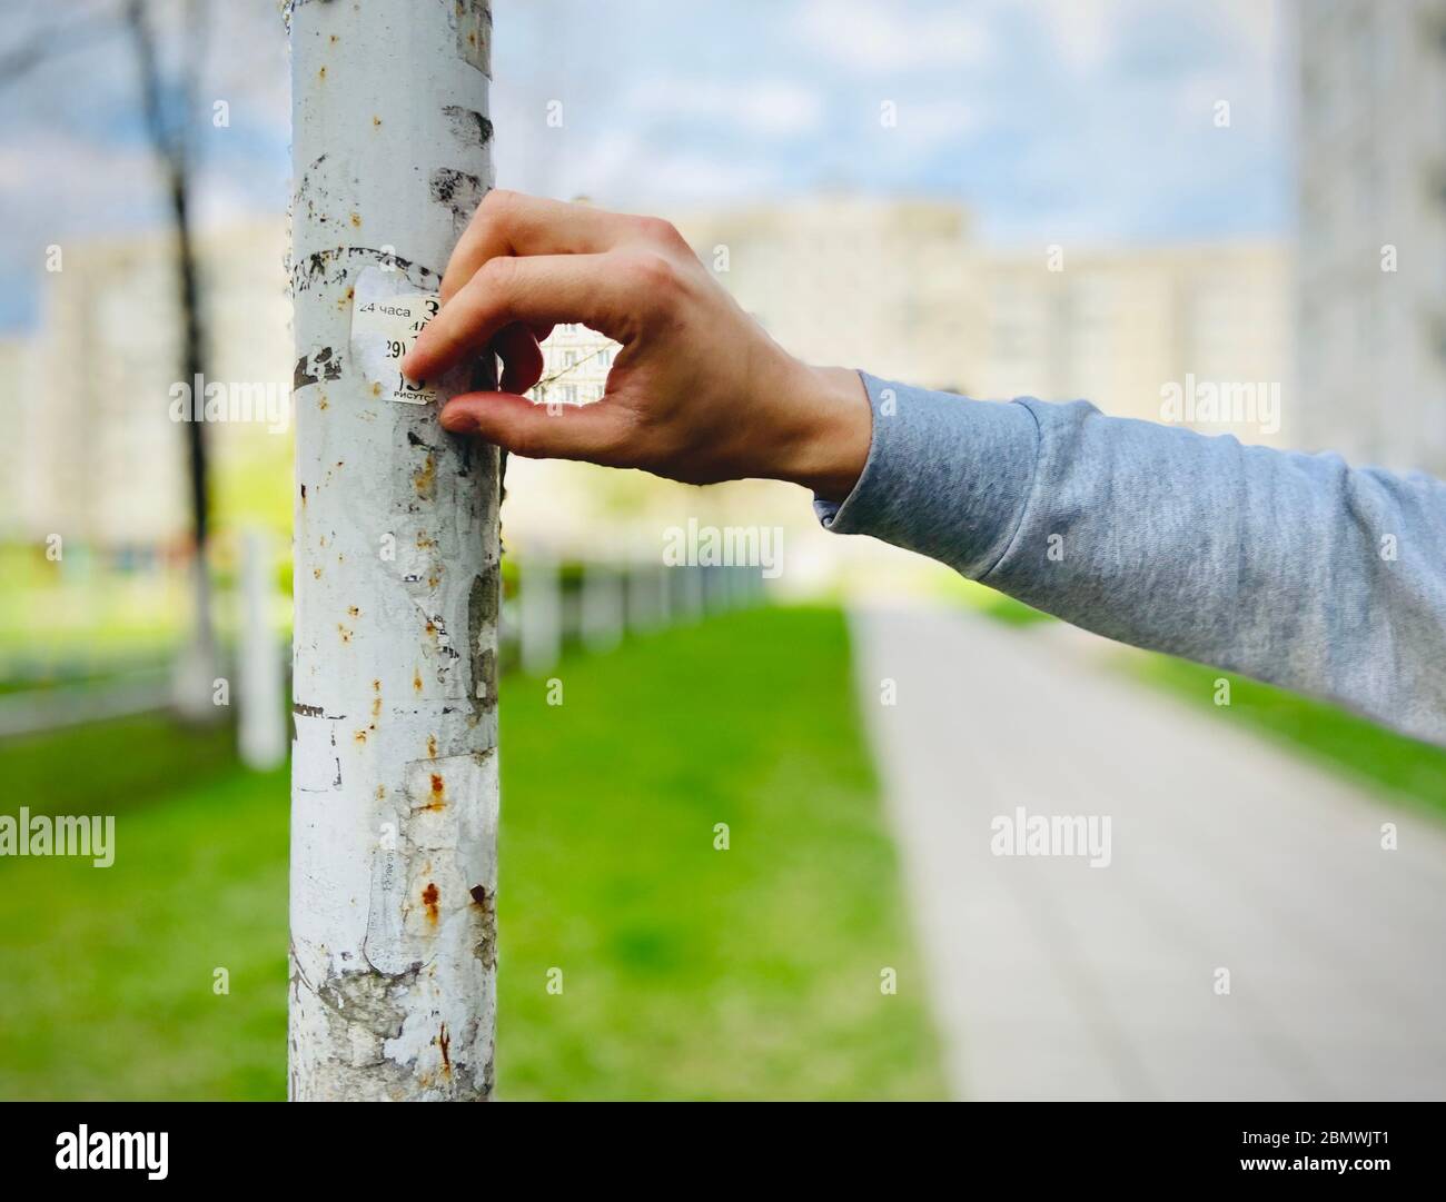
M 860 198 L 680 224 L 737 300 L 814 363 L 986 399 L 1084 397 L 1148 420 L 1189 379 L 1274 386 L 1288 422 L 1290 259 L 1275 243 L 998 251 L 957 205 Z

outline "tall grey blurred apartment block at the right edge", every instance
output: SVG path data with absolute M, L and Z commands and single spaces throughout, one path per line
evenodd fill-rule
M 1307 0 L 1301 442 L 1446 475 L 1446 0 Z

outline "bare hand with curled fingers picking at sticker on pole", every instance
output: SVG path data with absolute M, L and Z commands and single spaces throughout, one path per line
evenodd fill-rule
M 493 191 L 453 251 L 441 299 L 402 361 L 409 379 L 489 345 L 503 360 L 499 392 L 447 402 L 450 431 L 690 484 L 790 480 L 834 501 L 863 470 L 872 415 L 857 374 L 790 355 L 667 221 Z M 521 396 L 542 374 L 538 342 L 562 322 L 622 344 L 596 403 Z

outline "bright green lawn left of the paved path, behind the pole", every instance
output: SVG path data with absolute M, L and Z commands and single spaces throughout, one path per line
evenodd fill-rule
M 503 682 L 499 1097 L 943 1092 L 847 672 L 836 611 L 765 610 Z M 285 1091 L 285 776 L 174 741 L 0 745 L 64 779 L 6 812 L 119 815 L 111 868 L 0 860 L 3 1098 Z

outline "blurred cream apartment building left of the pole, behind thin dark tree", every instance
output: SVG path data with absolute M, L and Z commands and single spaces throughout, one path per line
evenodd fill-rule
M 17 432 L 0 536 L 59 533 L 111 550 L 174 545 L 189 530 L 189 507 L 185 435 L 171 419 L 181 381 L 171 238 L 62 251 L 62 270 L 42 277 L 39 329 L 6 354 L 23 368 L 0 384 Z M 283 251 L 285 225 L 275 221 L 200 240 L 207 380 L 289 389 Z M 263 423 L 213 426 L 213 498 L 246 488 L 247 468 L 289 472 L 289 445 Z

